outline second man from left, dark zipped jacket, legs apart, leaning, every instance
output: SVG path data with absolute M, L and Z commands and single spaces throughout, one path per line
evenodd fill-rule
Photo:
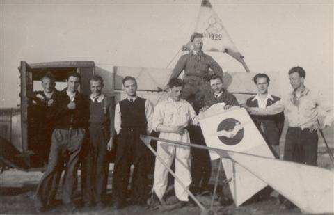
M 67 74 L 67 88 L 58 93 L 56 103 L 47 111 L 47 118 L 54 120 L 55 129 L 51 136 L 49 163 L 36 191 L 35 207 L 42 211 L 48 206 L 49 196 L 54 196 L 56 187 L 52 180 L 58 174 L 65 161 L 63 179 L 63 203 L 70 211 L 75 209 L 74 191 L 77 186 L 79 153 L 87 127 L 88 106 L 78 92 L 80 75 L 77 72 Z M 58 184 L 58 183 L 56 183 Z

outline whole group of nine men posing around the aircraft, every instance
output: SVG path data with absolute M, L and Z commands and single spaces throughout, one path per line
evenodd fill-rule
M 108 177 L 106 154 L 116 146 L 113 169 L 113 207 L 120 209 L 128 202 L 145 205 L 148 199 L 148 148 L 140 135 L 159 132 L 160 138 L 205 145 L 199 127 L 198 114 L 220 102 L 227 107 L 239 106 L 237 99 L 223 88 L 223 70 L 214 59 L 202 52 L 201 35 L 191 37 L 194 49 L 180 58 L 168 81 L 168 98 L 155 107 L 147 99 L 136 95 L 134 77 L 122 81 L 127 98 L 116 104 L 113 97 L 102 94 L 104 81 L 100 76 L 90 79 L 91 94 L 87 98 L 78 91 L 80 75 L 67 74 L 67 88 L 61 92 L 54 88 L 54 78 L 47 73 L 42 77 L 44 92 L 34 95 L 36 101 L 47 106 L 47 120 L 53 122 L 51 148 L 47 170 L 36 191 L 35 206 L 39 211 L 54 201 L 62 170 L 62 198 L 73 210 L 77 169 L 81 161 L 82 196 L 87 207 L 103 207 Z M 209 68 L 213 74 L 209 74 Z M 184 70 L 184 79 L 178 78 Z M 301 67 L 289 70 L 294 91 L 287 99 L 268 93 L 270 79 L 267 74 L 255 75 L 253 81 L 258 93 L 243 106 L 250 112 L 255 125 L 269 147 L 279 157 L 279 140 L 283 130 L 285 109 L 289 128 L 285 140 L 284 159 L 316 165 L 317 161 L 317 106 L 328 111 L 324 125 L 331 125 L 333 108 L 321 95 L 305 88 L 305 71 Z M 51 82 L 47 90 L 45 83 Z M 114 140 L 117 136 L 116 141 Z M 88 141 L 86 140 L 88 139 Z M 157 154 L 166 164 L 175 161 L 175 173 L 187 189 L 194 193 L 207 191 L 211 176 L 211 160 L 207 150 L 190 149 L 158 141 Z M 64 166 L 64 163 L 66 164 Z M 131 191 L 128 192 L 131 166 Z M 164 204 L 168 185 L 168 170 L 156 159 L 152 200 Z M 181 206 L 192 205 L 188 193 L 175 181 L 175 196 Z M 129 195 L 128 195 L 129 193 Z

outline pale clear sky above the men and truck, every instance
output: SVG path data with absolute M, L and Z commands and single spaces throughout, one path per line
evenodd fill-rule
M 210 1 L 251 72 L 299 65 L 333 99 L 333 1 Z M 193 33 L 200 1 L 1 1 L 0 107 L 19 104 L 20 61 L 167 67 Z M 223 53 L 224 71 L 245 72 Z M 180 57 L 169 65 L 173 67 Z

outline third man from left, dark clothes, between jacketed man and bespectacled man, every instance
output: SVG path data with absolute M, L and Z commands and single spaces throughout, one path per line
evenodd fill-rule
M 96 204 L 103 207 L 102 200 L 106 194 L 109 163 L 107 150 L 113 146 L 115 129 L 115 99 L 102 94 L 103 79 L 94 75 L 90 81 L 89 98 L 89 143 L 83 156 L 83 199 L 86 207 Z

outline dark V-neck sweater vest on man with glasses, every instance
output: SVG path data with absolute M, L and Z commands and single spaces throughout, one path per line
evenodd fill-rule
M 145 112 L 146 99 L 137 97 L 134 102 L 128 99 L 120 101 L 120 127 L 146 127 L 148 124 Z

